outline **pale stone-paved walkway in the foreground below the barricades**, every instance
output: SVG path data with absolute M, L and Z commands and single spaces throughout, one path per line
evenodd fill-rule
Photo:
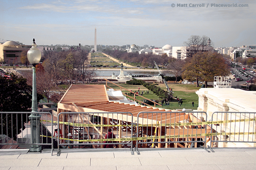
M 164 149 L 164 148 L 163 148 Z M 255 170 L 254 148 L 0 150 L 0 170 Z

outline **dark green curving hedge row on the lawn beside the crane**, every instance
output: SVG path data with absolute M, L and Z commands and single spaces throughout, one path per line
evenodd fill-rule
M 167 91 L 164 91 L 163 89 L 152 85 L 148 82 L 144 82 L 143 80 L 140 79 L 133 79 L 130 81 L 127 81 L 126 84 L 129 85 L 143 85 L 145 88 L 148 88 L 148 90 L 151 90 L 154 94 L 156 94 L 157 96 L 159 96 L 159 98 L 164 98 L 164 99 L 172 99 L 172 96 L 168 94 Z

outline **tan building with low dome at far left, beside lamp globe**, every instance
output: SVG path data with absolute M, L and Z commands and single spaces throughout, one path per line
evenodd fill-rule
M 0 62 L 7 64 L 20 64 L 20 55 L 23 50 L 29 50 L 31 45 L 21 45 L 15 41 L 7 41 L 0 44 Z

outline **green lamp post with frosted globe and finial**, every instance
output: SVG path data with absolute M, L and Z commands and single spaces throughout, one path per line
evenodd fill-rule
M 41 152 L 42 146 L 35 144 L 40 143 L 40 118 L 41 115 L 35 112 L 38 112 L 38 103 L 36 96 L 36 75 L 35 75 L 35 65 L 40 62 L 41 52 L 38 50 L 35 44 L 35 39 L 33 39 L 32 47 L 27 53 L 29 62 L 33 65 L 33 82 L 32 82 L 32 113 L 29 116 L 30 125 L 31 125 L 31 140 L 32 145 L 30 146 L 29 152 Z

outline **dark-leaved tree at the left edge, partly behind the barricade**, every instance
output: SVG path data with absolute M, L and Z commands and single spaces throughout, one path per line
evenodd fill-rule
M 27 85 L 25 78 L 17 77 L 14 74 L 11 74 L 10 76 L 10 78 L 0 77 L 0 111 L 30 111 L 29 108 L 31 108 L 32 104 L 32 96 L 30 93 L 32 91 L 32 87 Z M 21 130 L 25 129 L 24 122 L 28 120 L 27 116 L 29 116 L 29 114 L 1 114 L 0 116 L 2 120 L 0 122 L 0 131 L 3 130 L 3 134 L 16 139 L 16 135 L 19 134 Z

